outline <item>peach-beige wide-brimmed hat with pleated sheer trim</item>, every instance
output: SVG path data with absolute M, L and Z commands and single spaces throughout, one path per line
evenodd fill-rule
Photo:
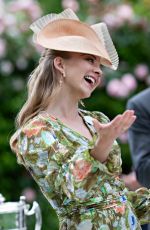
M 71 9 L 48 14 L 31 24 L 34 42 L 42 47 L 99 56 L 101 64 L 116 70 L 118 54 L 105 23 L 88 25 Z

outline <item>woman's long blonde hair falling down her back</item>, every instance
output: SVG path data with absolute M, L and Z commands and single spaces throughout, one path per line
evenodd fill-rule
M 69 52 L 45 49 L 39 65 L 33 70 L 27 83 L 28 97 L 16 117 L 16 133 L 10 139 L 10 146 L 16 151 L 19 129 L 30 119 L 45 110 L 59 87 L 60 72 L 54 67 L 56 57 L 68 59 Z

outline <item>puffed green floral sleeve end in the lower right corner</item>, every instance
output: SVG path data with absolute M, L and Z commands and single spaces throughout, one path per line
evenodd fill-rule
M 127 197 L 141 224 L 150 223 L 150 190 L 142 187 L 136 191 L 128 191 Z

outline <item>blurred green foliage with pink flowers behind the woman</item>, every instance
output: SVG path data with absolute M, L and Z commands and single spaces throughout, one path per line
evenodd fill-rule
M 117 71 L 103 69 L 103 83 L 84 101 L 86 109 L 102 111 L 112 119 L 125 110 L 131 96 L 150 86 L 149 0 L 0 0 L 0 193 L 8 201 L 19 200 L 20 195 L 25 195 L 28 203 L 38 201 L 42 230 L 58 230 L 57 216 L 26 169 L 17 164 L 9 139 L 26 99 L 28 76 L 41 52 L 32 42 L 29 25 L 42 15 L 68 7 L 89 24 L 104 21 L 120 57 Z M 127 133 L 118 142 L 123 173 L 128 174 L 132 162 Z

